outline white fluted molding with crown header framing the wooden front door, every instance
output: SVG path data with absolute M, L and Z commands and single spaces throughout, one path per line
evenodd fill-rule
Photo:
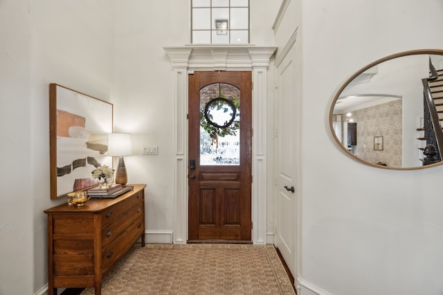
M 174 244 L 188 240 L 188 73 L 195 70 L 253 72 L 253 243 L 266 244 L 266 97 L 267 69 L 275 47 L 163 47 L 170 58 L 174 90 Z

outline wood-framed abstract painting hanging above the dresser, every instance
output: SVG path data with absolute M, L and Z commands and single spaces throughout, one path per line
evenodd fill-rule
M 91 172 L 112 166 L 106 155 L 114 105 L 59 84 L 49 84 L 51 199 L 94 187 Z

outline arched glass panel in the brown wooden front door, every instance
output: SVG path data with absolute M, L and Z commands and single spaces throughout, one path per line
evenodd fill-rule
M 240 164 L 240 90 L 222 83 L 200 90 L 200 164 Z

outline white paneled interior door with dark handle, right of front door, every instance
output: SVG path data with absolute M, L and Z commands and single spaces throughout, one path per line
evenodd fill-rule
M 296 46 L 278 64 L 276 73 L 275 247 L 296 278 L 299 146 Z

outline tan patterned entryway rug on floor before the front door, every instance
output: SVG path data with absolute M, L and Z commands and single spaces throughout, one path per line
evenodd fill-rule
M 102 294 L 295 292 L 272 245 L 136 244 L 105 278 Z

